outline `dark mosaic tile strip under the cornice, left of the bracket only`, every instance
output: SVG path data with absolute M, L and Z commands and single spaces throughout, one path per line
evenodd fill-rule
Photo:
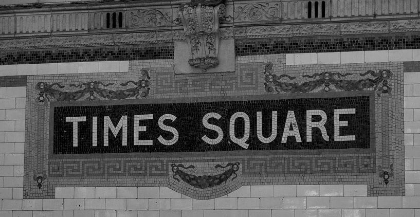
M 91 41 L 96 43 L 100 40 L 101 38 L 92 38 Z M 173 59 L 173 44 L 141 45 L 124 40 L 122 39 L 123 44 L 96 43 L 80 46 L 60 40 L 52 40 L 57 46 L 25 46 L 13 40 L 9 45 L 0 40 L 0 47 L 3 49 L 0 53 L 0 65 Z M 32 45 L 32 42 L 29 44 Z

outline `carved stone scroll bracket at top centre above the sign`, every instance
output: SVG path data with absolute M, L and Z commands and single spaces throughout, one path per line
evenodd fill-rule
M 218 65 L 219 24 L 224 20 L 224 0 L 195 1 L 179 6 L 177 25 L 184 26 L 185 37 L 191 48 L 192 58 L 188 64 L 195 68 L 208 69 Z

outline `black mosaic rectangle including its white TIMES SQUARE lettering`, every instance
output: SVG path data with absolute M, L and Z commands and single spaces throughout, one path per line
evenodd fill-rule
M 369 96 L 264 98 L 273 97 L 92 106 L 53 102 L 50 150 L 60 155 L 370 148 Z

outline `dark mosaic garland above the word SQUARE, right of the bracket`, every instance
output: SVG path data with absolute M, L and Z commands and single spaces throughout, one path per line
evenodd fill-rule
M 345 77 L 355 75 L 360 79 L 351 80 Z M 289 75 L 276 75 L 273 72 L 273 64 L 267 63 L 264 66 L 265 90 L 272 93 L 308 93 L 308 92 L 334 92 L 334 91 L 363 91 L 373 89 L 378 95 L 391 93 L 388 80 L 392 77 L 390 70 L 368 70 L 366 73 L 315 73 L 293 77 Z M 286 80 L 287 79 L 287 80 Z

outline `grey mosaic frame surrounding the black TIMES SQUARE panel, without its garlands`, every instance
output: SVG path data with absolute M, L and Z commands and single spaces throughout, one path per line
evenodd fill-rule
M 171 68 L 154 68 L 150 73 L 151 90 L 147 99 L 139 100 L 155 100 L 164 102 L 168 97 L 172 97 L 169 101 L 182 100 L 215 100 L 214 96 L 222 96 L 226 99 L 238 100 L 241 96 L 258 97 L 263 94 L 264 97 L 295 97 L 295 96 L 348 96 L 359 93 L 358 91 L 350 92 L 332 92 L 332 93 L 310 93 L 310 94 L 271 94 L 267 93 L 263 85 L 264 73 L 263 68 L 266 63 L 247 63 L 238 64 L 238 71 L 234 74 L 226 74 L 225 79 L 229 81 L 240 82 L 244 78 L 245 83 L 232 82 L 230 88 L 221 95 L 220 90 L 217 92 L 208 92 L 206 89 L 195 89 L 191 91 L 189 88 L 168 88 L 168 86 L 160 86 L 164 80 L 156 80 L 157 75 L 170 75 Z M 130 72 L 127 74 L 85 74 L 80 75 L 54 75 L 54 76 L 29 76 L 27 86 L 27 111 L 26 111 L 26 142 L 25 142 L 25 175 L 24 175 L 24 198 L 52 198 L 54 195 L 54 187 L 86 187 L 86 186 L 168 186 L 180 193 L 191 196 L 193 198 L 208 199 L 225 195 L 242 185 L 303 185 L 303 184 L 368 184 L 368 195 L 404 195 L 404 142 L 403 134 L 398 132 L 403 126 L 403 88 L 402 88 L 402 63 L 376 63 L 361 64 L 357 67 L 364 66 L 365 69 L 382 69 L 388 68 L 394 76 L 389 81 L 392 88 L 390 94 L 377 95 L 374 90 L 368 90 L 374 95 L 375 109 L 375 142 L 372 152 L 364 152 L 355 150 L 328 150 L 320 153 L 319 150 L 285 151 L 276 155 L 258 152 L 240 153 L 234 152 L 230 155 L 228 152 L 224 156 L 214 156 L 211 153 L 205 153 L 205 156 L 184 153 L 180 159 L 176 154 L 167 153 L 167 156 L 153 156 L 152 158 L 138 158 L 132 155 L 129 157 L 119 157 L 118 155 L 94 155 L 81 156 L 77 159 L 49 159 L 48 158 L 48 141 L 49 141 L 49 102 L 38 102 L 36 97 L 39 94 L 34 86 L 38 82 L 62 82 L 66 84 L 78 84 L 86 82 L 86 78 L 90 80 L 109 82 L 113 79 L 114 83 L 123 83 L 127 80 L 135 80 L 141 77 L 141 70 L 137 68 L 136 63 L 130 63 Z M 355 66 L 356 67 L 356 66 Z M 275 67 L 276 68 L 276 67 Z M 351 68 L 351 67 L 350 67 Z M 342 67 L 339 67 L 342 70 Z M 305 71 L 324 71 L 334 70 L 331 66 L 308 66 Z M 283 68 L 282 73 L 298 73 L 302 75 L 302 71 L 296 71 L 294 67 Z M 303 73 L 305 75 L 305 73 Z M 194 85 L 202 86 L 200 83 L 189 83 L 189 81 L 206 80 L 209 75 L 181 75 L 172 78 L 172 82 L 180 80 L 186 84 L 190 84 L 190 88 Z M 226 82 L 222 75 L 222 83 Z M 215 82 L 221 80 L 215 79 Z M 244 85 L 245 84 L 245 85 Z M 168 85 L 168 84 L 166 84 Z M 244 85 L 244 86 L 241 86 Z M 211 86 L 211 85 L 210 85 Z M 222 87 L 223 88 L 223 87 Z M 193 88 L 192 88 L 193 89 Z M 179 93 L 186 93 L 181 94 Z M 199 96 L 200 93 L 207 93 Z M 207 95 L 207 97 L 206 97 Z M 188 97 L 190 96 L 190 97 Z M 88 103 L 92 103 L 88 99 L 80 99 Z M 110 103 L 121 103 L 120 100 L 112 100 Z M 67 102 L 66 102 L 67 103 Z M 78 102 L 79 103 L 79 102 Z M 83 103 L 83 102 L 81 102 Z M 373 125 L 372 125 L 373 127 Z M 217 153 L 220 155 L 220 153 Z M 293 156 L 293 157 L 291 157 Z M 105 160 L 106 157 L 109 157 Z M 293 159 L 295 161 L 291 161 Z M 49 163 L 47 163 L 49 162 Z M 186 168 L 195 166 L 195 169 L 180 169 L 190 175 L 209 175 L 214 176 L 222 172 L 227 172 L 228 168 L 215 168 L 217 165 L 227 166 L 232 162 L 241 162 L 239 170 L 236 172 L 238 177 L 229 178 L 225 183 L 213 188 L 197 190 L 183 181 L 178 182 L 171 171 L 172 164 L 182 164 Z M 72 176 L 54 177 L 50 174 L 49 167 L 53 164 L 67 164 L 67 171 Z M 88 165 L 82 167 L 83 165 Z M 140 165 L 140 167 L 133 166 Z M 383 170 L 387 170 L 391 164 L 394 164 L 393 177 L 388 185 L 384 184 L 383 178 L 380 177 Z M 121 165 L 131 165 L 130 172 L 137 177 L 128 176 L 127 171 L 122 169 Z M 287 167 L 285 166 L 287 165 Z M 350 166 L 349 166 L 350 165 Z M 365 165 L 367 165 L 365 167 Z M 105 177 L 102 174 L 105 167 Z M 89 175 L 80 172 L 79 168 L 88 169 Z M 284 169 L 283 169 L 284 168 Z M 78 172 L 79 170 L 79 172 Z M 45 177 L 42 188 L 36 186 L 33 179 L 34 176 Z M 178 176 L 176 176 L 178 177 Z

